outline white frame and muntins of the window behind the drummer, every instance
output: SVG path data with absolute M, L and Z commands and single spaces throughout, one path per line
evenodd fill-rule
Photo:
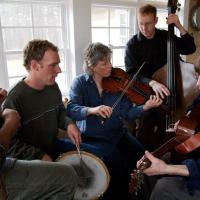
M 62 87 L 65 88 L 61 90 L 63 95 L 66 95 L 68 92 L 69 85 L 72 81 L 72 70 L 70 68 L 67 68 L 67 66 L 70 65 L 70 57 L 69 57 L 69 52 L 70 52 L 70 41 L 69 41 L 69 4 L 68 1 L 63 1 L 63 0 L 18 0 L 18 1 L 13 1 L 13 0 L 3 0 L 0 4 L 28 4 L 31 7 L 33 4 L 47 4 L 47 5 L 59 5 L 61 9 L 61 25 L 59 28 L 61 28 L 61 35 L 62 35 L 62 48 L 59 47 L 59 52 L 62 53 L 63 56 L 63 70 L 62 74 L 64 75 L 64 82 L 62 83 Z M 32 13 L 31 13 L 32 14 Z M 31 18 L 33 22 L 33 18 Z M 7 66 L 7 60 L 6 56 L 7 55 L 16 55 L 16 54 L 22 54 L 23 50 L 16 50 L 16 51 L 7 51 L 4 49 L 4 43 L 3 43 L 3 34 L 2 30 L 3 28 L 26 28 L 26 26 L 2 26 L 1 20 L 0 20 L 0 65 L 1 65 L 1 70 L 0 70 L 0 87 L 3 87 L 5 89 L 9 89 L 12 87 L 9 85 L 9 80 L 12 78 L 22 78 L 24 75 L 17 75 L 17 76 L 9 76 L 8 74 L 8 66 Z M 38 26 L 35 26 L 33 23 L 31 26 L 27 26 L 28 28 L 31 28 L 32 35 L 31 38 L 34 39 L 34 28 L 37 28 Z M 45 28 L 45 26 L 39 26 L 40 28 Z M 52 26 L 53 28 L 56 28 L 57 26 Z M 49 26 L 48 26 L 49 28 Z M 22 60 L 21 58 L 20 60 Z M 67 71 L 67 72 L 66 72 Z M 63 85 L 64 84 L 64 85 Z

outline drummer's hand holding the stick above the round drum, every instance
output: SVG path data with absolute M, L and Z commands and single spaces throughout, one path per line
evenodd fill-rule
M 81 133 L 76 124 L 71 123 L 67 126 L 67 135 L 74 144 L 80 146 Z

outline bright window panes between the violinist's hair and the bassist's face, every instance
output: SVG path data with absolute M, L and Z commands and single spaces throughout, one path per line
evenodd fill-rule
M 109 45 L 113 50 L 113 66 L 124 67 L 124 50 L 130 37 L 130 9 L 92 6 L 92 42 Z

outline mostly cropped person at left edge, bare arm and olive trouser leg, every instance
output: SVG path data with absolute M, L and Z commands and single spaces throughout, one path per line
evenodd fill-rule
M 0 88 L 0 105 L 5 97 L 6 91 Z M 6 150 L 19 126 L 17 111 L 5 109 L 0 113 L 0 199 L 72 200 L 78 184 L 72 167 L 6 157 Z

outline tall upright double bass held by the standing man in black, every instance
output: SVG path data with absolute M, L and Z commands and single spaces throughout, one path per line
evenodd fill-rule
M 168 14 L 180 9 L 177 0 L 168 0 Z M 166 116 L 166 128 L 184 116 L 187 107 L 199 95 L 196 88 L 195 68 L 192 63 L 181 60 L 175 44 L 174 24 L 168 25 L 167 64 L 152 76 L 158 82 L 166 85 L 171 93 L 167 97 L 167 105 L 172 110 L 171 116 Z

